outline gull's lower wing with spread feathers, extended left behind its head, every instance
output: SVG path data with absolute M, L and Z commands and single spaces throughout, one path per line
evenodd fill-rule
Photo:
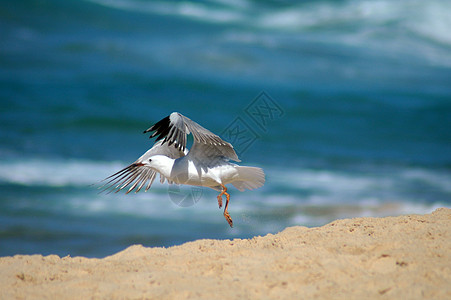
M 144 187 L 144 185 L 146 185 L 146 183 L 147 185 L 145 191 L 147 192 L 152 186 L 152 183 L 157 175 L 157 172 L 148 166 L 149 157 L 153 155 L 165 155 L 170 158 L 177 159 L 185 156 L 185 153 L 180 149 L 170 147 L 168 144 L 163 144 L 162 141 L 158 141 L 134 163 L 105 178 L 103 181 L 107 182 L 100 187 L 103 188 L 101 192 L 110 190 L 109 193 L 112 191 L 117 193 L 131 185 L 126 194 L 130 193 L 135 188 L 135 193 L 137 193 Z M 161 174 L 160 176 L 160 181 L 163 183 L 165 177 Z M 168 180 L 168 182 L 170 181 Z

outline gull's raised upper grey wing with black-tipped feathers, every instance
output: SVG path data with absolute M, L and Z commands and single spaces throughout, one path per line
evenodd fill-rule
M 163 139 L 163 144 L 167 143 L 169 146 L 174 144 L 180 150 L 186 149 L 186 135 L 191 133 L 194 138 L 193 148 L 196 146 L 196 143 L 209 145 L 212 147 L 208 148 L 212 148 L 217 156 L 240 161 L 230 143 L 178 112 L 173 112 L 155 123 L 155 125 L 145 130 L 144 133 L 151 131 L 154 132 L 150 138 L 158 136 L 157 141 Z

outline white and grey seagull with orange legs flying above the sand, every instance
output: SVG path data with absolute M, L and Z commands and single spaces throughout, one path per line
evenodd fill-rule
M 149 138 L 157 137 L 155 144 L 134 163 L 105 178 L 100 188 L 116 193 L 128 188 L 126 194 L 139 192 L 144 186 L 147 192 L 156 174 L 160 182 L 204 186 L 219 192 L 219 208 L 222 196 L 226 197 L 224 217 L 233 227 L 228 212 L 230 194 L 226 184 L 231 183 L 239 191 L 259 188 L 265 183 L 261 168 L 239 166 L 240 162 L 233 146 L 181 113 L 173 112 L 158 121 L 144 133 L 153 132 Z M 187 149 L 186 138 L 193 135 L 193 145 Z M 130 186 L 130 187 L 129 187 Z

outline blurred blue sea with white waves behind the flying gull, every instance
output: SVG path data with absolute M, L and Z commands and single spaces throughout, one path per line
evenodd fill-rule
M 0 256 L 451 207 L 447 0 L 0 2 Z M 178 111 L 266 184 L 99 193 Z

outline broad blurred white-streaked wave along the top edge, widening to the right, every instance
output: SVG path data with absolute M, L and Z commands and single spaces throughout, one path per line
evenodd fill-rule
M 217 38 L 235 45 L 299 51 L 306 47 L 305 41 L 313 41 L 347 47 L 347 52 L 365 49 L 366 55 L 375 57 L 389 53 L 387 59 L 400 55 L 451 66 L 451 19 L 447 16 L 451 3 L 444 0 L 307 1 L 292 5 L 247 0 L 89 1 L 108 8 L 228 26 Z

